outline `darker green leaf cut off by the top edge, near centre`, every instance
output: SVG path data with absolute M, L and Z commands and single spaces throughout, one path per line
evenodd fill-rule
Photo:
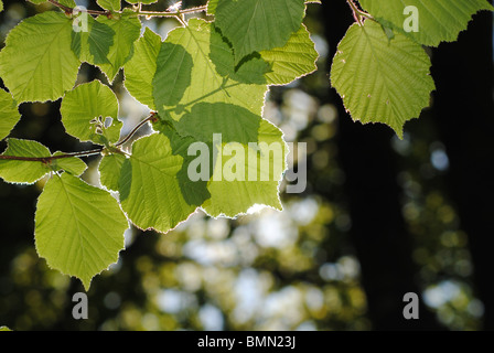
M 283 46 L 304 14 L 303 0 L 218 0 L 215 23 L 232 42 L 238 63 L 253 52 Z

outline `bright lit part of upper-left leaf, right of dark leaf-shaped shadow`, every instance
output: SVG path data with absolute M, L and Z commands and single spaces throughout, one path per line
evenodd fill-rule
M 128 12 L 124 12 L 118 19 L 108 19 L 100 15 L 96 21 L 108 25 L 115 32 L 114 44 L 110 46 L 107 55 L 109 63 L 98 65 L 108 79 L 112 82 L 120 67 L 131 56 L 133 42 L 137 41 L 140 34 L 141 22 L 137 17 L 131 17 Z

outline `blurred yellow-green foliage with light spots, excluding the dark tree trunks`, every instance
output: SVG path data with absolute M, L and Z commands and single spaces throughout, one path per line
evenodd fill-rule
M 185 7 L 200 3 L 184 1 Z M 170 4 L 160 1 L 152 9 Z M 22 18 L 50 7 L 23 1 L 4 1 L 4 6 L 0 40 Z M 283 212 L 265 208 L 237 220 L 214 220 L 197 212 L 167 235 L 129 229 L 119 261 L 93 280 L 89 319 L 76 321 L 72 296 L 83 291 L 80 282 L 49 269 L 34 249 L 34 206 L 43 183 L 1 182 L 0 325 L 13 330 L 370 330 L 359 264 L 348 239 L 352 220 L 341 188 L 345 175 L 336 162 L 339 117 L 329 101 L 327 47 L 318 11 L 318 6 L 309 7 L 305 24 L 321 54 L 319 71 L 287 87 L 272 87 L 265 108 L 266 118 L 283 130 L 287 141 L 308 143 L 303 193 L 282 192 Z M 162 35 L 175 25 L 143 23 Z M 93 78 L 104 79 L 85 65 L 79 82 Z M 121 79 L 120 74 L 114 89 L 129 129 L 147 111 L 125 92 Z M 23 104 L 13 136 L 36 139 L 53 150 L 86 149 L 64 133 L 58 108 L 60 101 Z M 459 231 L 458 214 L 444 192 L 448 156 L 427 117 L 426 110 L 420 120 L 408 122 L 404 140 L 389 141 L 400 156 L 402 214 L 415 240 L 417 281 L 427 306 L 448 328 L 475 330 L 483 309 L 471 287 L 468 237 Z M 94 182 L 98 160 L 87 162 L 85 178 Z

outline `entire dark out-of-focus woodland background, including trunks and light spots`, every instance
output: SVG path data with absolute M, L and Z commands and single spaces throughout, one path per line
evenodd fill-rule
M 94 1 L 86 6 L 97 9 Z M 4 1 L 4 8 L 1 41 L 22 18 L 50 6 Z M 421 117 L 406 124 L 402 141 L 384 125 L 353 122 L 330 87 L 331 60 L 353 21 L 344 0 L 309 6 L 304 23 L 318 43 L 319 69 L 272 87 L 265 109 L 288 140 L 308 143 L 308 189 L 282 193 L 282 213 L 266 210 L 238 220 L 200 213 L 167 235 L 129 231 L 117 266 L 93 280 L 87 320 L 71 313 L 80 282 L 50 270 L 35 254 L 33 220 L 43 182 L 0 182 L 0 325 L 494 329 L 492 13 L 474 15 L 458 42 L 429 51 L 437 90 Z M 173 22 L 146 23 L 164 31 Z M 80 77 L 105 79 L 88 65 Z M 146 117 L 125 104 L 131 99 L 121 73 L 112 88 L 122 119 Z M 52 151 L 86 149 L 64 132 L 58 109 L 60 100 L 22 104 L 11 137 Z M 92 181 L 98 160 L 86 161 Z M 420 297 L 418 320 L 402 317 L 402 297 L 410 291 Z

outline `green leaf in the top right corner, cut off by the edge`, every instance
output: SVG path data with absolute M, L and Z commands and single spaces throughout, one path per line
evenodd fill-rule
M 494 10 L 485 0 L 359 0 L 362 7 L 384 25 L 411 36 L 420 44 L 437 46 L 452 42 L 466 30 L 472 15 L 481 10 Z M 418 32 L 406 32 L 404 24 L 411 13 L 405 8 L 415 7 L 418 14 Z

